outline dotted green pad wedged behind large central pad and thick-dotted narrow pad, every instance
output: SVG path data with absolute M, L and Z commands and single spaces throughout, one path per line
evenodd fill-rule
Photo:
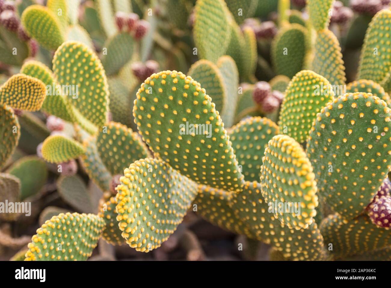
M 278 126 L 266 117 L 249 117 L 230 129 L 228 135 L 244 180 L 259 181 L 265 148 L 277 134 Z

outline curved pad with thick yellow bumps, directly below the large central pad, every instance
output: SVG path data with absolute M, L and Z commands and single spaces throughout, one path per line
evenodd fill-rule
M 117 220 L 137 251 L 160 247 L 174 233 L 197 195 L 197 184 L 162 160 L 132 163 L 117 187 Z

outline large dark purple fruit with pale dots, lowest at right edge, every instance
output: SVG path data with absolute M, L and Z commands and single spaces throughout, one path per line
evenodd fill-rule
M 378 227 L 389 229 L 391 227 L 391 197 L 375 197 L 369 204 L 366 212 L 373 224 Z

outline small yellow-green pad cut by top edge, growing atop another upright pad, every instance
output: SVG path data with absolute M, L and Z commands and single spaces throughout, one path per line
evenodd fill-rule
M 316 31 L 326 29 L 330 23 L 329 10 L 333 7 L 334 0 L 307 0 L 308 14 L 312 26 Z

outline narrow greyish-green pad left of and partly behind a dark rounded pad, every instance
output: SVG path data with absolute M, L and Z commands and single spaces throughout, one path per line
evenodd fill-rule
M 102 159 L 100 159 L 97 146 L 96 136 L 90 136 L 84 140 L 83 147 L 85 153 L 81 155 L 81 163 L 88 177 L 100 188 L 102 191 L 110 189 L 111 174 L 104 166 Z M 122 173 L 121 173 L 122 174 Z

